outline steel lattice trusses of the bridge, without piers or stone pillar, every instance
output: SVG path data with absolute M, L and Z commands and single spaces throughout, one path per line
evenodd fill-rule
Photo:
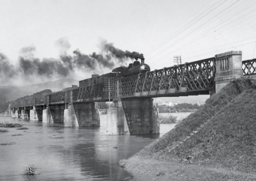
M 256 59 L 242 61 L 242 65 L 244 76 L 256 74 Z M 106 102 L 109 98 L 113 100 L 210 94 L 215 90 L 215 72 L 216 60 L 212 57 L 120 79 L 105 77 L 103 83 L 42 93 L 40 97 L 26 96 L 9 104 L 21 107 L 69 102 Z

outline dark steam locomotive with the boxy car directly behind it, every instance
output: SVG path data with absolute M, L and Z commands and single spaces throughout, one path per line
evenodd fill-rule
M 128 77 L 138 75 L 139 73 L 145 73 L 150 71 L 148 64 L 144 63 L 144 58 L 141 58 L 141 62 L 135 61 L 130 63 L 128 67 L 121 66 L 112 70 L 111 73 L 103 74 L 99 76 L 98 74 L 92 75 L 92 78 L 84 79 L 79 81 L 79 87 L 91 86 L 93 84 L 104 83 L 109 80 L 115 80 L 118 78 Z

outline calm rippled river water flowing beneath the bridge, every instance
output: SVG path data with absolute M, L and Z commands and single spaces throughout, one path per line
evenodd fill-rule
M 107 115 L 100 127 L 63 127 L 24 119 L 0 117 L 0 122 L 20 123 L 27 130 L 0 133 L 0 180 L 125 180 L 132 176 L 119 166 L 146 145 L 170 131 L 175 124 L 160 124 L 159 135 L 106 135 Z M 12 136 L 12 134 L 22 134 Z M 117 148 L 114 148 L 117 147 Z M 22 175 L 25 165 L 39 167 L 39 175 Z

